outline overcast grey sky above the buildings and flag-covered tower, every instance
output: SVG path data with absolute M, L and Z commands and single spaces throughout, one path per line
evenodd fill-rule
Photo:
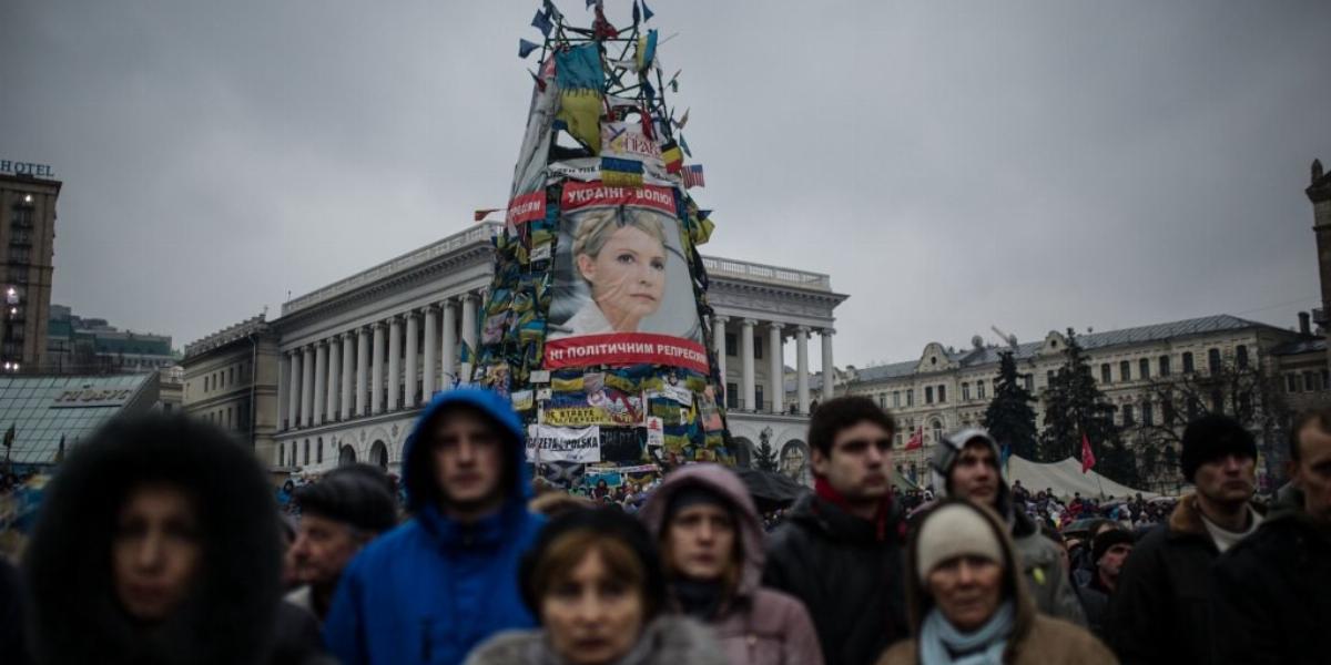
M 538 5 L 5 0 L 0 157 L 65 184 L 55 302 L 181 346 L 504 205 Z M 1326 0 L 651 8 L 704 253 L 829 273 L 839 364 L 1316 305 Z

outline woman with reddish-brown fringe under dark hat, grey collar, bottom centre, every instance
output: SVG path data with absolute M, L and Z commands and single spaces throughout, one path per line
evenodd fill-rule
M 727 665 L 705 626 L 664 612 L 651 536 L 619 511 L 559 515 L 519 575 L 540 628 L 499 633 L 466 665 Z

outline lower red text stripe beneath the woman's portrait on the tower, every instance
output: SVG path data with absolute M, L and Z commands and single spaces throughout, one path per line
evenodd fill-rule
M 707 348 L 671 335 L 612 332 L 546 342 L 546 368 L 591 364 L 667 364 L 708 372 Z

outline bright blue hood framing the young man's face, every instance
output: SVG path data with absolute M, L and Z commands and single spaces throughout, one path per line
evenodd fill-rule
M 454 408 L 479 411 L 490 418 L 506 436 L 507 455 L 504 462 L 507 463 L 510 485 L 506 507 L 511 507 L 514 503 L 526 504 L 531 497 L 531 472 L 526 463 L 527 432 L 522 420 L 518 419 L 512 404 L 499 394 L 484 388 L 462 387 L 435 395 L 411 427 L 411 434 L 402 451 L 402 483 L 406 485 L 407 508 L 419 512 L 441 496 L 429 446 L 419 442 L 427 439 L 429 427 L 441 414 Z

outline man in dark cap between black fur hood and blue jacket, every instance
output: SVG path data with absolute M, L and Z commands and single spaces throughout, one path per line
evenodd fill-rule
M 393 483 L 378 467 L 351 464 L 301 487 L 294 500 L 301 523 L 290 557 L 303 585 L 286 600 L 309 609 L 322 624 L 342 569 L 370 540 L 397 524 Z

